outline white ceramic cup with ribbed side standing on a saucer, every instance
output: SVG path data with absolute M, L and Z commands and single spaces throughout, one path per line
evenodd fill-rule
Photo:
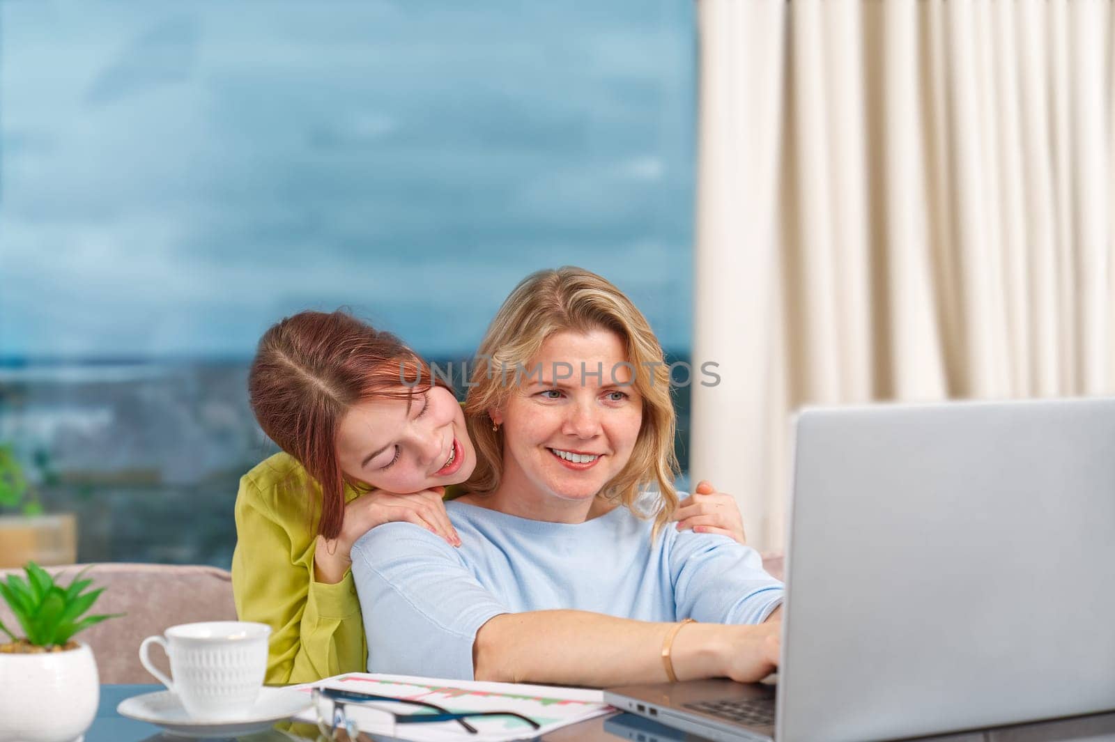
M 178 696 L 192 719 L 227 721 L 252 707 L 263 687 L 271 627 L 246 621 L 180 624 L 166 637 L 148 636 L 139 662 Z M 171 680 L 151 663 L 147 651 L 161 644 L 171 658 Z

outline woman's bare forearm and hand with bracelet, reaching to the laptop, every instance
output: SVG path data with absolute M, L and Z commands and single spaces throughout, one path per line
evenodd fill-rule
M 495 616 L 476 633 L 475 678 L 607 687 L 667 680 L 662 645 L 677 624 L 583 611 Z M 678 680 L 752 683 L 778 666 L 780 625 L 687 624 L 670 652 Z

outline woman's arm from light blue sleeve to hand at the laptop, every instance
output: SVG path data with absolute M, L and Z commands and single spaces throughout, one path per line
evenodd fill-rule
M 369 533 L 352 557 L 371 672 L 597 686 L 666 680 L 662 642 L 676 624 L 581 611 L 513 614 L 456 549 L 403 524 Z M 777 663 L 777 635 L 776 623 L 687 625 L 675 638 L 675 672 L 758 680 Z

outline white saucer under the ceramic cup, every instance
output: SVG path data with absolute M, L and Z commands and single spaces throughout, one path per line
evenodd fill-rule
M 264 687 L 252 707 L 245 709 L 236 719 L 213 721 L 191 719 L 178 696 L 169 691 L 158 691 L 120 701 L 116 713 L 157 724 L 180 736 L 232 736 L 271 729 L 275 722 L 306 711 L 311 703 L 309 693 L 284 687 Z

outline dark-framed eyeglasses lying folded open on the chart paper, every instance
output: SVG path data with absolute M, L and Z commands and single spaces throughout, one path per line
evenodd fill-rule
M 531 729 L 541 729 L 541 724 L 514 711 L 455 713 L 433 703 L 426 703 L 425 701 L 394 699 L 389 695 L 340 691 L 331 687 L 313 689 L 312 699 L 313 707 L 318 712 L 318 730 L 329 740 L 337 740 L 337 730 L 345 730 L 350 740 L 356 740 L 361 730 L 394 736 L 395 730 L 399 724 L 427 724 L 435 722 L 456 722 L 468 734 L 476 734 L 476 728 L 465 720 L 483 716 L 511 716 L 525 722 Z M 367 705 L 369 702 L 376 701 L 428 709 L 429 713 L 398 714 L 387 709 Z

